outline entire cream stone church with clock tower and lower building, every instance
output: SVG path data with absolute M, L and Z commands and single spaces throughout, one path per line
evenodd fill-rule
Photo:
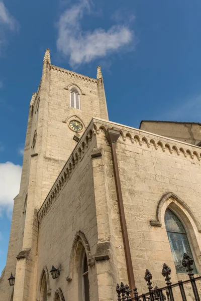
M 0 300 L 116 300 L 117 282 L 147 289 L 146 268 L 162 285 L 164 262 L 185 279 L 184 252 L 201 273 L 200 141 L 200 123 L 109 121 L 100 67 L 56 67 L 47 49 Z

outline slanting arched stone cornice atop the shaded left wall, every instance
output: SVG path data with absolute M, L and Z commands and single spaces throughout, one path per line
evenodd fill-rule
M 56 179 L 54 185 L 52 186 L 49 194 L 47 195 L 44 203 L 42 204 L 39 212 L 38 212 L 38 220 L 44 218 L 46 213 L 49 211 L 52 204 L 57 199 L 58 195 L 60 194 L 61 190 L 71 178 L 72 173 L 75 170 L 75 167 L 79 161 L 81 161 L 84 157 L 85 149 L 89 146 L 89 143 L 92 140 L 92 136 L 94 131 L 92 129 L 91 123 L 89 124 L 87 130 L 82 135 L 81 139 L 75 146 L 71 156 L 69 157 L 68 161 L 66 162 L 65 166 L 63 167 L 62 171 L 60 172 L 58 178 Z

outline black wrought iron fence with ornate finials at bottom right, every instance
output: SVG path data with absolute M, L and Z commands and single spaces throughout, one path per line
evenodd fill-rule
M 196 281 L 201 279 L 201 276 L 194 277 L 194 273 L 192 272 L 193 271 L 193 268 L 192 268 L 193 259 L 186 253 L 184 253 L 184 255 L 183 255 L 182 265 L 186 268 L 186 272 L 189 276 L 188 280 L 184 280 L 184 281 L 180 280 L 180 281 L 172 284 L 172 282 L 170 282 L 171 269 L 169 266 L 167 266 L 167 264 L 164 263 L 163 269 L 162 269 L 162 275 L 163 275 L 163 277 L 165 277 L 166 286 L 163 286 L 161 288 L 158 288 L 157 286 L 155 286 L 153 289 L 153 286 L 151 285 L 152 284 L 152 282 L 151 282 L 152 274 L 147 269 L 145 272 L 144 279 L 147 282 L 149 291 L 147 293 L 143 293 L 143 294 L 139 295 L 138 289 L 134 288 L 133 289 L 134 297 L 131 297 L 132 290 L 130 289 L 130 287 L 127 284 L 124 285 L 124 283 L 121 282 L 121 285 L 117 284 L 117 288 L 116 288 L 117 295 L 118 295 L 118 301 L 134 301 L 134 300 L 135 301 L 154 301 L 154 300 L 177 301 L 174 297 L 174 293 L 172 290 L 173 287 L 179 287 L 180 296 L 181 296 L 182 300 L 187 301 L 186 293 L 185 293 L 185 289 L 184 289 L 184 284 L 186 284 L 186 283 L 191 284 L 192 291 L 194 294 L 194 300 L 200 301 L 197 286 L 196 286 Z

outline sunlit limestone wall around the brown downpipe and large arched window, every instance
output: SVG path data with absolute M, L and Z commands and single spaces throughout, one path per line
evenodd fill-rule
M 100 141 L 97 143 L 98 147 L 102 145 L 105 149 L 108 191 L 110 203 L 113 204 L 111 221 L 116 246 L 121 242 L 119 213 L 115 205 L 111 149 L 107 141 L 104 142 L 104 136 L 107 127 L 121 131 L 116 145 L 117 158 L 134 275 L 139 291 L 147 291 L 144 281 L 147 268 L 153 274 L 153 285 L 164 284 L 161 275 L 164 262 L 172 269 L 172 282 L 186 278 L 186 275 L 176 274 L 175 271 L 164 225 L 167 206 L 183 221 L 196 267 L 200 272 L 200 148 L 112 122 L 99 121 L 96 126 L 97 141 Z M 125 275 L 121 276 L 121 264 L 118 268 L 120 281 L 127 282 Z M 192 299 L 191 295 L 188 299 Z

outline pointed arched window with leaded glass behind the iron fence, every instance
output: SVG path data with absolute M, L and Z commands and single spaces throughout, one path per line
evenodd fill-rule
M 192 251 L 182 222 L 170 209 L 165 211 L 165 228 L 167 231 L 176 272 L 186 273 L 186 268 L 181 264 L 183 254 L 187 253 L 193 258 Z M 192 267 L 194 273 L 197 273 L 194 263 Z

